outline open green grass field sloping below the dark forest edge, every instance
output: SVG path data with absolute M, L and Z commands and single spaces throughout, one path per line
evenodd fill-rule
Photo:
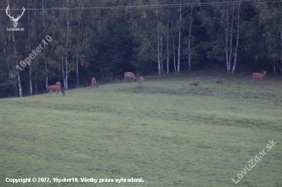
M 281 77 L 265 76 L 260 86 L 250 75 L 225 76 L 217 85 L 223 77 L 202 74 L 188 87 L 196 76 L 0 99 L 0 186 L 282 186 Z M 53 182 L 73 177 L 79 182 Z

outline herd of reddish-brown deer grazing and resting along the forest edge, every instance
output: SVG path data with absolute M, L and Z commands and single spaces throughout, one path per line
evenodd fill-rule
M 252 81 L 252 84 L 254 83 L 254 79 L 255 79 L 255 78 L 258 78 L 258 79 L 259 79 L 259 84 L 261 85 L 261 78 L 263 78 L 263 77 L 266 75 L 267 71 L 263 71 L 263 72 L 264 72 L 263 74 L 253 73 L 253 81 Z M 131 72 L 126 72 L 126 73 L 125 73 L 125 78 L 124 78 L 124 83 L 125 83 L 125 81 L 127 82 L 127 78 L 128 78 L 128 77 L 130 78 L 130 82 L 131 82 L 131 78 L 133 78 L 133 79 L 134 79 L 134 82 L 136 82 L 136 78 L 135 78 L 134 74 L 131 73 Z M 189 83 L 188 86 L 198 86 L 199 81 L 200 81 L 200 78 L 197 78 L 197 77 L 196 77 L 196 81 L 197 81 L 197 83 Z M 221 81 L 217 81 L 215 84 L 223 84 L 224 81 L 225 81 L 225 79 L 222 79 Z M 94 88 L 95 86 L 98 87 L 98 84 L 97 84 L 96 79 L 95 79 L 94 77 L 91 79 L 91 82 L 92 82 L 92 88 Z M 140 87 L 141 85 L 142 85 L 142 87 L 143 87 L 144 78 L 143 78 L 143 77 L 140 77 L 140 78 L 137 80 L 137 82 L 139 83 L 139 87 Z M 66 94 L 65 91 L 62 89 L 62 85 L 61 85 L 60 82 L 56 82 L 55 85 L 49 86 L 49 96 L 50 96 L 50 95 L 52 96 L 52 92 L 53 92 L 53 91 L 56 91 L 56 96 L 57 96 L 57 93 L 58 93 L 58 95 L 59 95 L 59 91 L 61 91 L 64 96 L 65 96 L 65 94 Z

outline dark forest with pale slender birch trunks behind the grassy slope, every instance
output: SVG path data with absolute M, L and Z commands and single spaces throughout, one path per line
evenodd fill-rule
M 181 19 L 179 3 L 179 0 L 1 0 L 0 98 L 19 96 L 19 92 L 23 96 L 42 93 L 57 81 L 70 89 L 89 85 L 92 77 L 105 83 L 123 78 L 125 72 L 137 76 L 155 74 L 158 62 L 162 68 L 159 74 L 163 75 L 167 72 L 167 52 L 169 72 L 174 72 L 174 59 L 176 69 L 178 63 L 179 24 L 180 72 L 226 68 L 227 52 L 231 69 L 224 71 L 229 73 L 265 70 L 270 74 L 274 69 L 276 74 L 281 72 L 280 2 L 215 4 L 182 0 Z M 171 4 L 174 6 L 130 8 Z M 25 7 L 17 25 L 24 31 L 8 31 L 13 28 L 6 14 L 8 5 L 14 17 L 21 15 Z M 22 67 L 19 62 L 29 57 L 46 35 L 52 41 L 31 60 L 31 65 Z M 235 59 L 236 67 L 231 72 Z M 23 71 L 16 69 L 16 65 Z M 16 70 L 18 76 L 10 78 L 9 72 Z

